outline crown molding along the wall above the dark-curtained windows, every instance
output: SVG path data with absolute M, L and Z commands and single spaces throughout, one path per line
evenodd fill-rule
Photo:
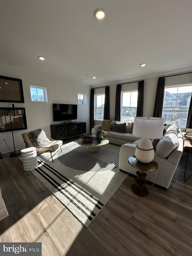
M 146 78 L 154 78 L 154 77 L 159 77 L 159 76 L 169 76 L 169 75 L 175 75 L 178 73 L 184 73 L 184 72 L 189 72 L 192 71 L 192 67 L 188 67 L 188 68 L 182 68 L 182 69 L 176 69 L 176 70 L 170 70 L 164 73 L 157 73 L 157 74 L 153 74 L 153 75 L 148 75 L 148 76 L 137 76 L 137 77 L 133 77 L 133 78 L 128 78 L 125 80 L 116 80 L 116 81 L 112 81 L 112 82 L 108 82 L 108 83 L 104 83 L 104 84 L 95 84 L 95 85 L 91 85 L 91 88 L 97 88 L 100 86 L 107 86 L 107 85 L 112 85 L 112 84 L 121 84 L 121 83 L 125 83 L 125 82 L 131 82 L 134 80 L 144 80 Z

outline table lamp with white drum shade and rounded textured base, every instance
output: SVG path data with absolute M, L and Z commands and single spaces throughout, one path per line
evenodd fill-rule
M 154 159 L 154 148 L 150 139 L 160 139 L 163 136 L 164 118 L 136 117 L 133 135 L 142 138 L 137 144 L 135 156 L 142 163 L 149 163 Z

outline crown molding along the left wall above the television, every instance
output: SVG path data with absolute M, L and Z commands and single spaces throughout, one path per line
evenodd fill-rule
M 28 69 L 28 68 L 18 68 L 18 67 L 6 65 L 6 64 L 3 64 L 3 63 L 0 63 L 0 66 L 4 66 L 4 67 L 7 67 L 7 68 L 13 68 L 13 69 L 21 70 L 21 71 L 24 71 L 24 72 L 30 72 L 32 74 L 46 76 L 46 77 L 49 77 L 49 78 L 53 78 L 53 79 L 57 79 L 57 80 L 62 80 L 64 82 L 70 82 L 70 83 L 73 83 L 73 84 L 78 84 L 78 85 L 83 85 L 83 86 L 88 86 L 88 87 L 90 86 L 89 84 L 81 84 L 81 83 L 78 83 L 78 82 L 74 82 L 74 81 L 71 81 L 71 80 L 66 80 L 64 78 L 52 76 L 52 75 L 49 75 L 49 74 L 46 74 L 46 73 L 43 73 L 43 72 L 38 72 L 36 70 L 32 70 L 32 69 Z

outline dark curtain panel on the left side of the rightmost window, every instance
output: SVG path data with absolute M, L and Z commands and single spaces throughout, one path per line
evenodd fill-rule
M 164 90 L 165 90 L 165 78 L 159 77 L 158 84 L 157 84 L 153 117 L 162 117 Z

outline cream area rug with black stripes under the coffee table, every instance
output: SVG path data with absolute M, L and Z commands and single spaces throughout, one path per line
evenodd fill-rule
M 32 173 L 88 226 L 127 177 L 117 168 L 119 150 L 109 144 L 91 153 L 70 142 L 54 155 L 54 163 L 48 153 L 38 157 L 39 166 Z

